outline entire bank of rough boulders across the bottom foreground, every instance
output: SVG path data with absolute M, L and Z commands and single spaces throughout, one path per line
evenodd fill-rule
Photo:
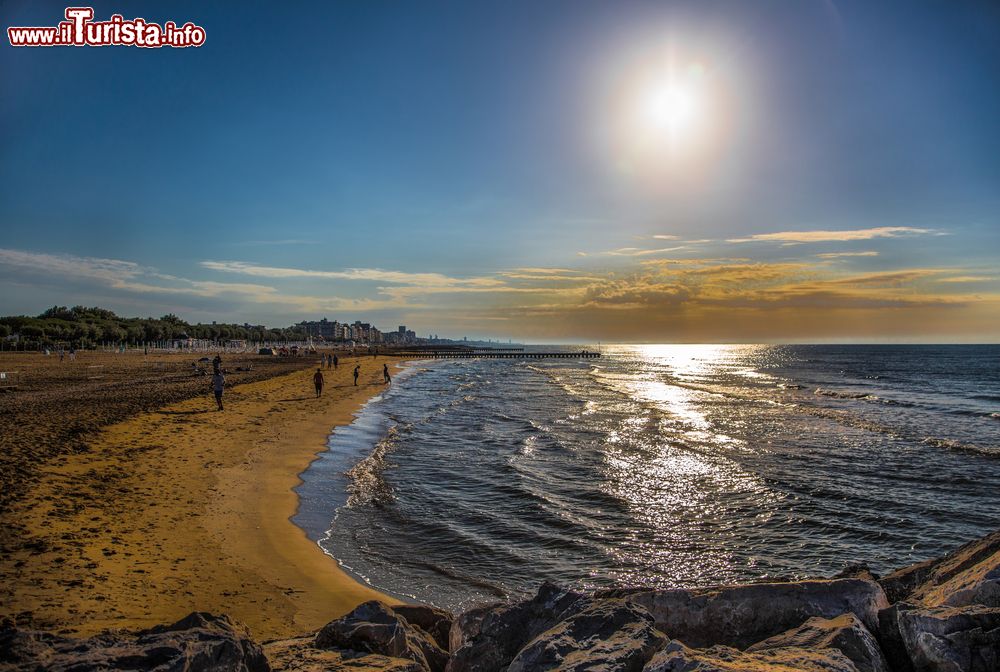
M 458 616 L 368 602 L 316 633 L 253 642 L 192 614 L 136 635 L 72 640 L 0 629 L 0 670 L 997 672 L 1000 532 L 886 577 L 579 593 Z

